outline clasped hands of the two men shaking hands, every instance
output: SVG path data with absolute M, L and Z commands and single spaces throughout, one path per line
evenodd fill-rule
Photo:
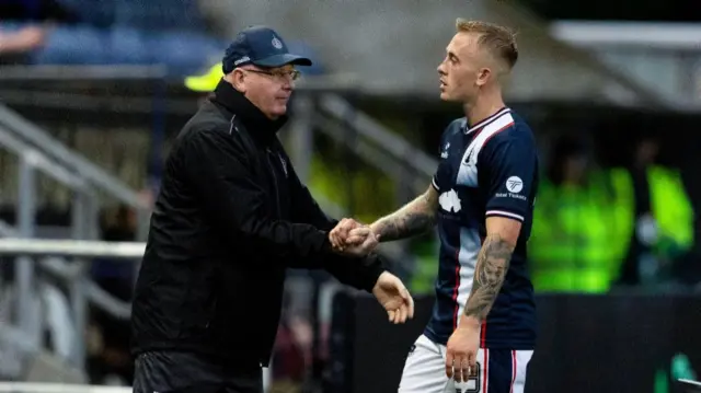
M 338 254 L 363 257 L 377 247 L 380 235 L 372 232 L 370 226 L 344 218 L 329 232 L 329 241 Z

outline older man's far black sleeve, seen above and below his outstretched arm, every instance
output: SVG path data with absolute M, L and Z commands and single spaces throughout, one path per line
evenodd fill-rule
M 295 170 L 291 169 L 291 165 L 290 190 L 296 222 L 310 223 L 324 231 L 331 231 L 338 223 L 337 220 L 329 218 L 321 210 L 309 189 L 301 183 Z M 384 265 L 379 255 L 371 254 L 365 258 L 352 258 L 334 254 L 329 256 L 323 267 L 338 281 L 371 292 L 378 277 L 386 270 Z

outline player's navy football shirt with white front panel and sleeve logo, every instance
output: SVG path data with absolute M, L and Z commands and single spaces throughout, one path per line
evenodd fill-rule
M 518 115 L 503 108 L 468 126 L 452 122 L 440 138 L 433 180 L 439 195 L 440 238 L 436 303 L 424 334 L 447 344 L 464 310 L 487 217 L 520 221 L 521 231 L 499 294 L 482 325 L 482 348 L 532 349 L 536 342 L 533 287 L 526 267 L 538 155 L 533 135 Z

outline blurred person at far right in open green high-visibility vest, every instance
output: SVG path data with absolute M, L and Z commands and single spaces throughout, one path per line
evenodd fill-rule
M 630 165 L 611 171 L 618 215 L 627 218 L 622 285 L 657 285 L 693 243 L 693 208 L 678 170 L 660 164 L 659 141 L 643 134 Z

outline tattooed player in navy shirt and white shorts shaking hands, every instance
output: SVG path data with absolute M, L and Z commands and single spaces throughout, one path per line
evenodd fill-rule
M 444 131 L 440 162 L 424 195 L 374 222 L 381 241 L 438 226 L 436 303 L 412 347 L 400 393 L 521 393 L 536 345 L 536 303 L 526 269 L 538 153 L 528 125 L 502 96 L 518 58 L 505 27 L 459 19 L 438 66 L 440 99 L 466 117 Z M 365 238 L 347 223 L 334 242 Z

